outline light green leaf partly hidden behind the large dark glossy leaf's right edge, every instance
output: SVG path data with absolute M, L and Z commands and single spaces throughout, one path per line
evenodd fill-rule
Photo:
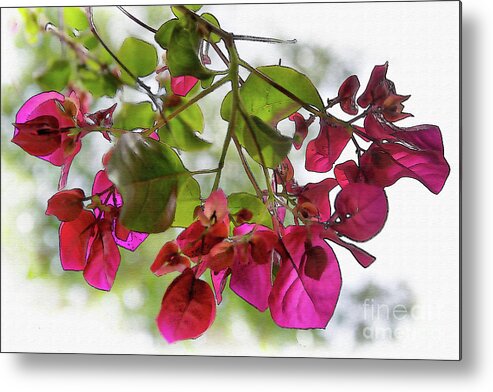
M 195 207 L 200 205 L 200 186 L 192 176 L 179 179 L 176 214 L 173 227 L 187 227 L 194 220 Z

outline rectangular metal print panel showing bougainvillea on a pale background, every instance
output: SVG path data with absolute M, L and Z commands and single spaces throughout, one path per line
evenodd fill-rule
M 459 29 L 2 9 L 2 350 L 459 359 Z

